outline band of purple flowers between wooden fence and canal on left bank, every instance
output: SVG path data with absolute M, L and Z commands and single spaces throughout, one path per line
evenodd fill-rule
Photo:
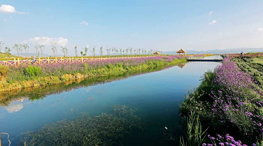
M 119 73 L 120 70 L 129 69 L 139 65 L 147 66 L 161 66 L 168 65 L 169 62 L 182 58 L 181 56 L 153 56 L 153 57 L 142 57 L 142 58 L 121 58 L 121 59 L 107 59 L 107 60 L 96 60 L 83 63 L 56 63 L 48 65 L 35 65 L 40 69 L 39 74 L 34 75 L 34 70 L 27 69 L 26 66 L 9 67 L 8 81 L 24 81 L 35 79 L 35 77 L 48 77 L 48 76 L 62 76 L 63 74 L 89 74 L 89 76 L 98 76 L 100 74 L 108 74 L 108 69 L 116 70 L 115 74 Z M 29 70 L 30 72 L 25 72 Z M 113 73 L 113 71 L 112 71 Z M 28 76 L 28 74 L 32 74 Z

